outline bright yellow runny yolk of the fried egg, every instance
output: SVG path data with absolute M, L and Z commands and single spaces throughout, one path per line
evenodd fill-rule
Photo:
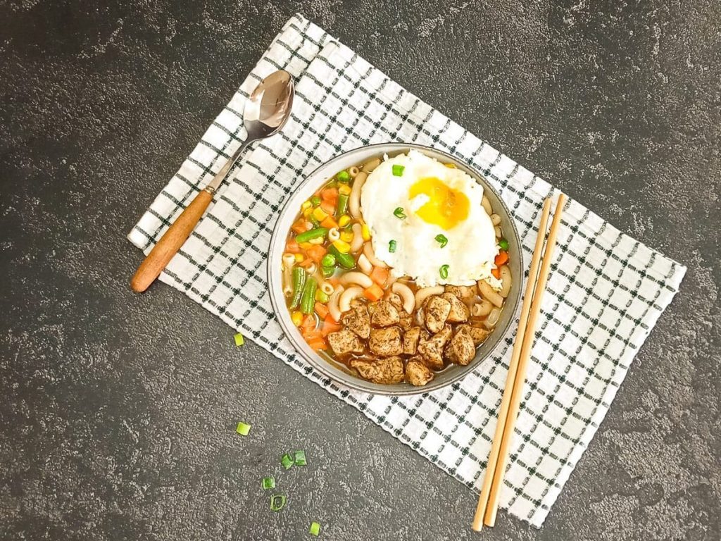
M 428 224 L 452 229 L 468 218 L 470 202 L 466 194 L 454 190 L 436 177 L 418 180 L 408 190 L 408 197 L 427 195 L 429 201 L 421 206 L 415 214 Z

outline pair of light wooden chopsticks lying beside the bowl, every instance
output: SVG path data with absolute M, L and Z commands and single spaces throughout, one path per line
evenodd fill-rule
M 503 399 L 498 412 L 498 423 L 495 436 L 493 436 L 491 452 L 488 456 L 486 477 L 483 480 L 481 496 L 478 498 L 476 514 L 473 517 L 472 527 L 477 532 L 482 529 L 483 524 L 491 527 L 495 524 L 498 497 L 500 496 L 505 466 L 508 461 L 508 450 L 513 439 L 513 429 L 516 427 L 518 408 L 521 405 L 521 392 L 523 391 L 523 384 L 526 383 L 526 368 L 534 344 L 536 320 L 538 320 L 541 312 L 541 299 L 543 299 L 546 289 L 565 203 L 566 196 L 564 194 L 559 195 L 548 239 L 546 239 L 546 227 L 551 212 L 551 198 L 547 198 L 543 206 L 541 221 L 539 222 L 539 236 L 536 239 L 536 247 L 534 247 L 531 269 L 528 271 L 526 294 L 523 297 L 521 318 L 518 321 L 516 343 L 513 345 L 513 353 L 508 367 L 508 378 L 505 382 Z

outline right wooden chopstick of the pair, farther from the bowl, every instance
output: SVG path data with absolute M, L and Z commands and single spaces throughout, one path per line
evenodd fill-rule
M 551 229 L 548 234 L 548 239 L 543 254 L 543 263 L 541 264 L 541 271 L 539 272 L 538 280 L 536 281 L 533 302 L 531 302 L 531 310 L 528 315 L 526 333 L 523 335 L 521 355 L 518 359 L 518 371 L 516 372 L 516 378 L 513 381 L 513 394 L 510 397 L 508 417 L 506 418 L 505 427 L 503 428 L 503 437 L 501 438 L 496 468 L 495 472 L 493 472 L 490 496 L 488 498 L 488 503 L 483 519 L 483 523 L 486 526 L 492 527 L 495 524 L 496 514 L 498 511 L 498 498 L 500 496 L 500 489 L 503 485 L 505 465 L 506 462 L 508 462 L 508 450 L 510 449 L 510 444 L 513 441 L 513 431 L 516 428 L 518 409 L 521 406 L 521 394 L 523 392 L 523 385 L 526 383 L 526 369 L 528 367 L 528 360 L 531 359 L 531 349 L 534 345 L 536 323 L 538 321 L 539 314 L 541 313 L 541 301 L 543 300 L 543 296 L 546 291 L 546 283 L 548 281 L 549 272 L 551 270 L 553 252 L 554 248 L 556 247 L 556 237 L 558 236 L 558 230 L 561 224 L 561 216 L 563 215 L 563 207 L 565 206 L 565 203 L 566 196 L 562 193 L 561 195 L 559 195 L 558 201 L 556 203 L 556 208 L 554 210 L 553 222 L 551 224 Z

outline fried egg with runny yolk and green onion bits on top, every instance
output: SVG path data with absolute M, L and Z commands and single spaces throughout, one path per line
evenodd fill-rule
M 376 258 L 418 286 L 471 286 L 491 276 L 495 229 L 483 188 L 416 150 L 385 159 L 361 189 Z

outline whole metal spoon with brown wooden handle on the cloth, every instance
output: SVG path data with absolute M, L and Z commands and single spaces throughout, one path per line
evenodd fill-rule
M 198 224 L 200 216 L 203 216 L 203 212 L 211 203 L 213 194 L 216 193 L 221 182 L 246 147 L 259 139 L 275 135 L 280 128 L 283 128 L 291 115 L 293 94 L 293 79 L 287 71 L 283 70 L 273 72 L 255 87 L 243 110 L 243 123 L 248 137 L 228 162 L 221 167 L 213 180 L 198 195 L 195 195 L 190 205 L 185 208 L 185 211 L 182 211 L 182 214 L 161 237 L 148 257 L 143 260 L 131 280 L 133 291 L 138 291 L 138 293 L 145 291 L 155 281 L 155 278 L 160 276 L 165 266 L 193 232 L 195 224 Z

